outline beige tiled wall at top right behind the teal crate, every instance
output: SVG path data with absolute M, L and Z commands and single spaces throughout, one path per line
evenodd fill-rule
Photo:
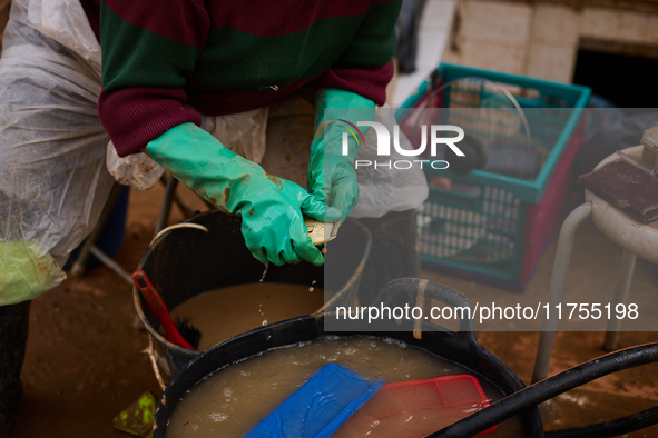
M 443 61 L 570 82 L 581 38 L 658 46 L 658 14 L 502 1 L 456 2 Z

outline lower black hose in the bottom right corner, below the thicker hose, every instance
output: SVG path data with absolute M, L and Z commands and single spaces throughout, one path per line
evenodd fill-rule
M 609 438 L 640 430 L 658 422 L 658 406 L 612 421 L 546 432 L 546 438 Z

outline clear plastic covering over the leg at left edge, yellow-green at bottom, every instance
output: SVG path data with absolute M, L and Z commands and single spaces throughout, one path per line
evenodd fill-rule
M 100 80 L 12 4 L 0 59 L 0 306 L 36 298 L 96 225 L 112 187 Z

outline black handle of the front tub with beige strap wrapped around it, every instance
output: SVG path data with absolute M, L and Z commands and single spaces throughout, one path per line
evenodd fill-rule
M 409 302 L 416 302 L 416 306 L 424 307 L 429 302 L 428 298 L 442 301 L 452 307 L 468 308 L 468 313 L 473 316 L 473 307 L 469 299 L 448 286 L 421 279 L 421 278 L 397 278 L 389 281 L 382 288 L 374 302 L 382 302 L 384 305 L 391 303 L 394 298 L 407 296 Z M 422 320 L 414 321 L 414 338 L 420 339 Z M 459 336 L 469 338 L 470 341 L 475 340 L 475 322 L 473 318 L 460 318 Z

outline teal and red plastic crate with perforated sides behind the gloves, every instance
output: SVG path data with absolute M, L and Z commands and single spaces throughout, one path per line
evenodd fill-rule
M 479 78 L 520 91 L 514 96 L 519 106 L 533 109 L 526 115 L 540 168 L 534 178 L 527 180 L 478 169 L 460 176 L 425 166 L 429 177 L 448 177 L 453 187 L 463 183 L 475 190 L 430 189 L 430 197 L 418 215 L 421 258 L 426 267 L 522 288 L 567 199 L 568 169 L 579 147 L 573 133 L 591 90 L 442 63 L 397 110 L 397 120 L 403 123 L 409 108 L 419 107 L 419 102 L 441 84 L 455 83 L 453 81 L 462 78 Z M 479 102 L 495 98 L 484 86 L 468 90 L 451 87 L 443 93 L 444 108 L 479 108 Z M 554 108 L 571 110 L 549 110 Z M 468 127 L 464 128 L 468 132 Z M 561 165 L 559 171 L 558 163 Z

